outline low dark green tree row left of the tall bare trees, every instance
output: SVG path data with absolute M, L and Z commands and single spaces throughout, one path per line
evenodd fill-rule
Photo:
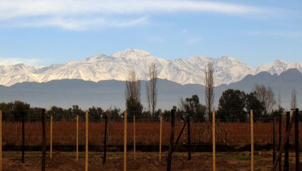
M 0 103 L 0 109 L 2 110 L 3 121 L 21 121 L 24 117 L 25 121 L 41 121 L 42 108 L 31 107 L 30 104 L 22 101 L 14 102 L 2 102 Z M 103 110 L 101 107 L 92 106 L 89 107 L 89 120 L 94 122 L 100 122 L 108 116 L 109 120 L 120 121 L 122 120 L 123 112 L 116 107 L 110 107 L 107 110 Z M 80 121 L 85 120 L 85 110 L 81 109 L 78 105 L 72 105 L 67 109 L 51 106 L 46 110 L 46 117 L 49 119 L 50 115 L 53 116 L 54 121 L 75 121 L 77 115 L 79 115 Z

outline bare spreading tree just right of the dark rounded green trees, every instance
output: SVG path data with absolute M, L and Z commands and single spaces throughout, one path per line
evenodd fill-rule
M 266 88 L 263 84 L 256 84 L 254 89 L 256 91 L 256 97 L 263 105 L 263 115 L 266 116 L 272 111 L 274 105 L 276 104 L 274 92 L 270 87 Z

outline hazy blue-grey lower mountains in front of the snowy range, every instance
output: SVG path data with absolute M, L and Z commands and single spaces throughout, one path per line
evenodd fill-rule
M 302 98 L 302 73 L 297 69 L 289 69 L 280 75 L 271 75 L 268 72 L 260 72 L 257 75 L 247 75 L 241 81 L 229 85 L 221 84 L 214 88 L 215 106 L 225 89 L 240 89 L 249 93 L 255 84 L 270 86 L 277 95 L 280 91 L 283 107 L 289 109 L 292 88 L 296 88 L 298 106 L 301 106 Z M 145 81 L 141 82 L 141 100 L 145 104 Z M 84 81 L 80 79 L 53 80 L 46 83 L 23 82 L 13 86 L 0 86 L 0 101 L 22 100 L 32 106 L 49 108 L 51 105 L 71 107 L 78 104 L 82 108 L 89 106 L 101 106 L 109 108 L 117 106 L 125 108 L 124 99 L 125 82 L 117 80 Z M 178 105 L 180 97 L 190 97 L 197 94 L 204 104 L 204 86 L 200 84 L 181 85 L 166 79 L 158 82 L 158 108 L 170 109 Z

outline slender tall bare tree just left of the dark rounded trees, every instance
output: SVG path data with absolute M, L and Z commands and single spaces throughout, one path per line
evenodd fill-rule
M 214 103 L 214 74 L 213 74 L 213 63 L 209 62 L 205 69 L 205 105 L 207 107 L 208 120 L 210 120 L 211 109 Z

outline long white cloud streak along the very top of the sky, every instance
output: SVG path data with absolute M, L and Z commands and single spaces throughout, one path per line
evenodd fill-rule
M 231 3 L 192 0 L 3 0 L 0 18 L 8 19 L 24 16 L 79 15 L 79 14 L 138 14 L 154 12 L 215 12 L 228 14 L 258 13 L 264 9 Z

